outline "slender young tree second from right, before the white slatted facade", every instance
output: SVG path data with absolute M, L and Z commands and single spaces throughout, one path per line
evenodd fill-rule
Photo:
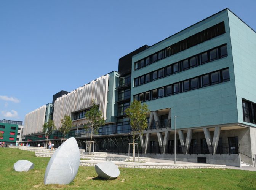
M 93 134 L 98 133 L 98 129 L 100 126 L 104 125 L 104 118 L 102 117 L 102 112 L 99 110 L 98 105 L 96 105 L 96 100 L 92 100 L 93 106 L 89 111 L 85 113 L 86 124 L 85 130 L 91 132 L 91 140 L 93 138 Z M 91 141 L 89 144 L 89 154 L 91 154 Z

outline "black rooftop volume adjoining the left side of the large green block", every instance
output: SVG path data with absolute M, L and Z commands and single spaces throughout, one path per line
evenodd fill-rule
M 128 73 L 131 73 L 131 64 L 132 64 L 131 59 L 132 59 L 133 55 L 136 55 L 139 52 L 142 52 L 142 51 L 144 51 L 145 49 L 147 49 L 149 47 L 150 46 L 148 46 L 148 45 L 144 45 L 144 46 L 134 50 L 130 54 L 127 54 L 127 55 L 121 57 L 119 59 L 118 72 L 121 73 L 121 74 L 123 73 L 124 75 L 128 74 Z

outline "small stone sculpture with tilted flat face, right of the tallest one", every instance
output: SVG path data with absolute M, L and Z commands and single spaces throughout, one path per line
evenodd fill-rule
M 96 173 L 102 179 L 114 179 L 120 175 L 120 171 L 112 161 L 105 161 L 95 165 Z

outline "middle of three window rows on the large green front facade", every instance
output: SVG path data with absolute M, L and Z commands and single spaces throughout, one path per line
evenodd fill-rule
M 155 81 L 157 79 L 169 76 L 171 74 L 179 73 L 181 71 L 196 67 L 198 65 L 203 65 L 207 62 L 211 62 L 226 56 L 227 45 L 224 44 L 222 46 L 215 47 L 214 49 L 210 49 L 201 54 L 194 55 L 182 61 L 173 63 L 166 67 L 160 68 L 158 70 L 134 78 L 134 87 Z

